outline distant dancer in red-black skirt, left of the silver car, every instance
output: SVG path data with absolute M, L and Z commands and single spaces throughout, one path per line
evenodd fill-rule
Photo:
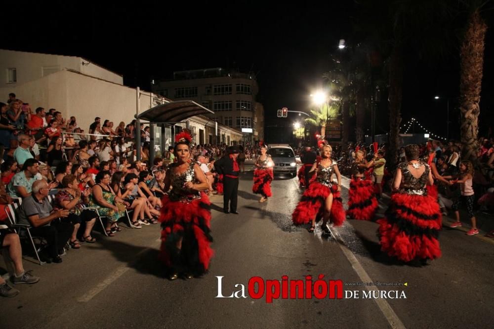
M 261 146 L 261 155 L 255 161 L 254 169 L 254 185 L 252 185 L 252 192 L 260 194 L 261 199 L 259 202 L 265 202 L 271 197 L 271 181 L 273 180 L 273 160 L 269 154 L 266 154 L 267 147 Z

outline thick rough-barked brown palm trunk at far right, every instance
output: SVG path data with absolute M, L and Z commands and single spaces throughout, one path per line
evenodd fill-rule
M 484 40 L 487 25 L 475 10 L 468 19 L 465 38 L 460 49 L 460 113 L 461 157 L 477 161 L 480 92 L 484 66 Z

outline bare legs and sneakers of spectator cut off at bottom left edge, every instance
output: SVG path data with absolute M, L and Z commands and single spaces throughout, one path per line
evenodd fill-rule
M 11 261 L 14 265 L 14 273 L 11 281 L 14 285 L 17 284 L 35 284 L 40 281 L 40 278 L 35 277 L 24 270 L 22 265 L 22 248 L 19 236 L 15 232 L 9 230 L 0 230 L 0 250 L 4 247 L 8 248 L 8 255 L 4 257 Z M 10 287 L 5 280 L 0 276 L 0 296 L 14 297 L 19 293 L 19 290 Z

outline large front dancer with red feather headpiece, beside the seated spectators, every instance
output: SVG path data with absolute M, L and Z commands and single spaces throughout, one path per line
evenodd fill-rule
M 209 247 L 211 203 L 204 193 L 209 188 L 201 167 L 190 162 L 190 135 L 182 132 L 175 137 L 176 163 L 168 166 L 166 192 L 162 199 L 160 222 L 160 259 L 170 269 L 170 280 L 178 275 L 186 279 L 204 274 L 213 250 Z M 172 189 L 170 191 L 170 186 Z

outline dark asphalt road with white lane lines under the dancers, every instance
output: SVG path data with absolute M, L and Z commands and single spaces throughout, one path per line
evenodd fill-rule
M 1 301 L 1 328 L 445 328 L 491 327 L 492 241 L 445 228 L 443 257 L 413 267 L 379 251 L 377 224 L 348 220 L 333 236 L 322 237 L 291 225 L 290 214 L 301 191 L 297 179 L 277 177 L 274 197 L 264 204 L 251 193 L 251 172 L 242 176 L 240 215 L 221 212 L 213 196 L 215 239 L 210 273 L 201 279 L 168 281 L 156 261 L 159 226 L 126 229 L 114 238 L 69 250 L 61 264 L 39 266 L 25 260 L 41 277 L 22 285 L 21 293 Z M 345 184 L 348 182 L 345 181 Z M 347 190 L 343 196 L 346 198 Z M 0 268 L 5 268 L 0 260 Z M 3 271 L 4 273 L 4 271 Z M 265 280 L 315 278 L 359 282 L 407 283 L 375 287 L 404 291 L 406 299 L 265 299 L 215 298 L 216 276 L 223 294 L 253 276 Z M 373 287 L 371 287 L 373 288 Z M 374 289 L 375 289 L 374 288 Z

